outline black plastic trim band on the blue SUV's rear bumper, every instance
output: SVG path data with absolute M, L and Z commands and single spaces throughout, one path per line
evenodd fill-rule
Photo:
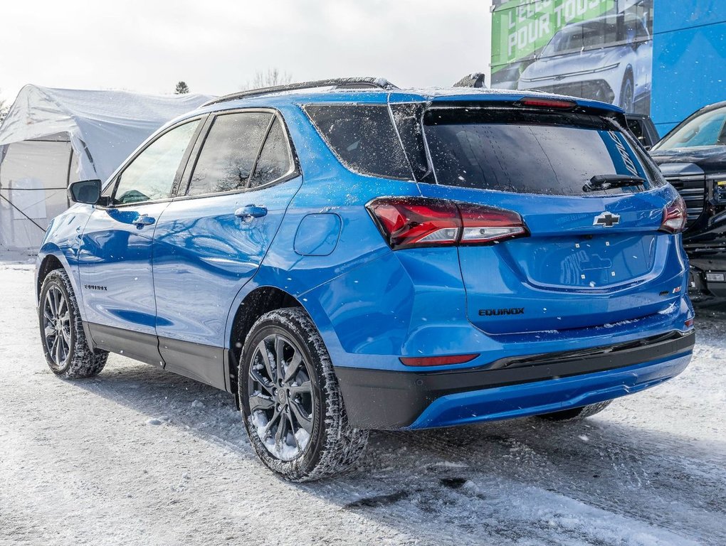
M 626 368 L 688 352 L 694 331 L 576 351 L 497 360 L 456 371 L 386 371 L 337 366 L 348 422 L 358 429 L 401 429 L 439 397 L 495 386 Z

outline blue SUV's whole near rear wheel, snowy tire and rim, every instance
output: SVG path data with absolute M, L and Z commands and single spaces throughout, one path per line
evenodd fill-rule
M 348 425 L 330 356 L 301 307 L 271 311 L 254 323 L 238 372 L 245 429 L 272 471 L 311 481 L 361 457 L 368 431 Z

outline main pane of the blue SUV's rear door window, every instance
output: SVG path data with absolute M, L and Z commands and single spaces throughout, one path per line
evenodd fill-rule
M 187 195 L 245 189 L 271 120 L 269 112 L 217 116 L 197 159 Z

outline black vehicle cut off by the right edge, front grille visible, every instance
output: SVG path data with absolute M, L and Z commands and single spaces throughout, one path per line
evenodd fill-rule
M 726 298 L 726 102 L 687 117 L 650 154 L 688 207 L 693 297 Z

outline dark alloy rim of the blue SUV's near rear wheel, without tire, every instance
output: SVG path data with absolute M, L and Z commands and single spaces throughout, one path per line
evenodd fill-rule
M 255 347 L 250 363 L 250 422 L 266 449 L 280 460 L 303 454 L 314 422 L 311 367 L 298 344 L 270 334 Z

